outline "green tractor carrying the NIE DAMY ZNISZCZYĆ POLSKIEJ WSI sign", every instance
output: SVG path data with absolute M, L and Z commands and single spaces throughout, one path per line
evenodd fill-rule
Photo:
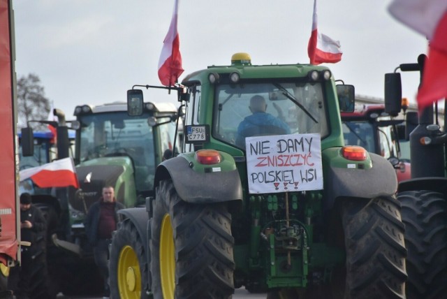
M 156 168 L 145 208 L 122 211 L 112 298 L 231 298 L 242 286 L 268 298 L 405 298 L 393 166 L 344 146 L 352 86 L 323 66 L 237 53 L 173 88 L 183 151 Z M 129 94 L 138 115 L 142 91 Z M 251 119 L 259 96 L 277 120 Z

